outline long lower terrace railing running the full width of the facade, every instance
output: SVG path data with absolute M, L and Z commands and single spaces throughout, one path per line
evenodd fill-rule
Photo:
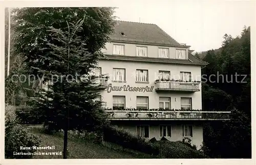
M 230 120 L 230 112 L 106 110 L 110 120 Z

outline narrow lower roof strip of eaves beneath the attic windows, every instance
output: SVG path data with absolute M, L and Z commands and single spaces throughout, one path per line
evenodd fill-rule
M 121 56 L 121 55 L 105 55 L 106 60 L 122 60 L 122 61 L 143 61 L 152 63 L 175 63 L 175 64 L 189 64 L 189 65 L 207 65 L 195 58 L 192 54 L 188 54 L 188 60 L 182 59 L 164 59 L 164 58 L 149 58 L 149 57 L 138 57 L 138 56 Z

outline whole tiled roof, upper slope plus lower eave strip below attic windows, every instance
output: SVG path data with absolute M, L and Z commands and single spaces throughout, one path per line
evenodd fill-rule
M 143 44 L 156 44 L 168 45 L 176 47 L 190 47 L 178 43 L 175 39 L 170 37 L 156 24 L 139 23 L 129 21 L 117 21 L 115 25 L 115 33 L 110 36 L 110 41 L 115 42 L 136 42 Z M 115 56 L 106 55 L 110 60 L 123 60 L 123 61 L 144 61 L 144 62 L 157 62 L 157 63 L 177 63 L 177 64 L 192 64 L 192 65 L 207 65 L 208 63 L 199 60 L 188 53 L 187 60 L 181 59 L 162 59 L 162 58 L 149 58 L 149 57 L 136 57 L 136 56 Z

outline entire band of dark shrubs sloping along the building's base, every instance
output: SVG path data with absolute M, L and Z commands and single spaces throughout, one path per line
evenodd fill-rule
M 106 142 L 161 158 L 208 158 L 201 151 L 196 150 L 195 146 L 191 146 L 189 141 L 148 141 L 127 132 L 123 128 L 111 125 L 105 126 L 103 130 L 103 137 Z

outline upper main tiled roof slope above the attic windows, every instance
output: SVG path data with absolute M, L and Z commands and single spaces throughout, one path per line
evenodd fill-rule
M 121 33 L 124 34 L 121 35 Z M 129 21 L 117 21 L 115 33 L 111 39 L 141 40 L 144 42 L 158 42 L 180 45 L 156 24 Z

